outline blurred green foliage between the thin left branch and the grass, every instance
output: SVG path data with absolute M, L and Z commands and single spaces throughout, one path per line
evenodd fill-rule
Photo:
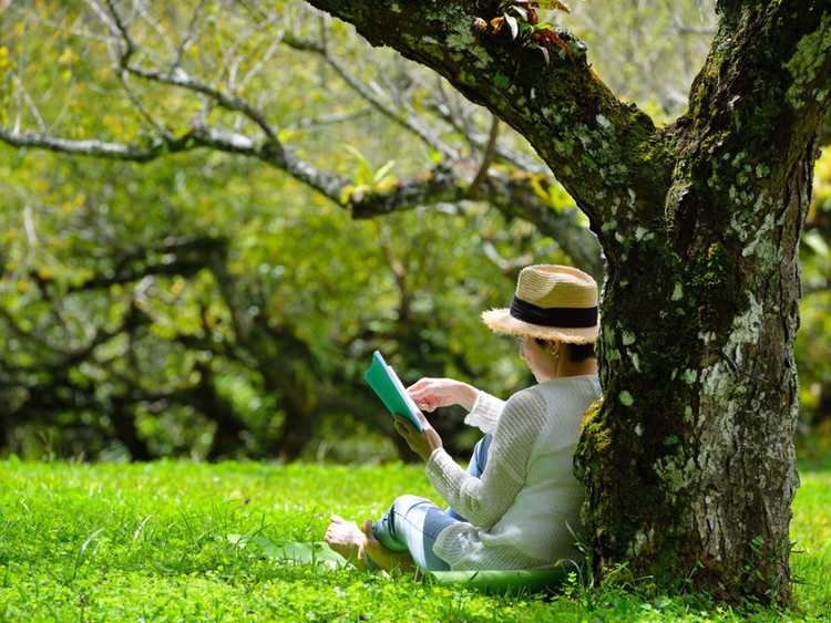
M 49 434 L 61 454 L 99 455 L 125 408 L 147 440 L 133 454 L 215 456 L 219 424 L 203 403 L 225 401 L 239 424 L 226 433 L 247 435 L 220 454 L 269 456 L 289 433 L 289 393 L 297 417 L 391 430 L 361 382 L 376 347 L 407 382 L 449 374 L 504 391 L 522 380 L 504 361 L 512 346 L 478 319 L 504 304 L 510 281 L 470 235 L 537 245 L 522 222 L 483 208 L 355 221 L 263 165 L 204 167 L 198 155 L 124 166 L 31 153 L 0 173 L 2 361 L 24 381 L 7 391 L 6 417 L 12 447 L 33 444 L 24 454 Z M 58 395 L 39 406 L 45 386 Z

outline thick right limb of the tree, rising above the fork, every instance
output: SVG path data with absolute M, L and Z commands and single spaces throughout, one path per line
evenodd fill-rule
M 707 176 L 676 170 L 664 204 L 668 239 L 679 255 L 695 247 L 696 227 L 725 227 L 755 197 L 762 201 L 773 180 L 792 177 L 814 144 L 830 104 L 831 49 L 821 42 L 831 37 L 831 4 L 822 6 L 719 2 L 718 32 L 693 83 L 688 112 L 666 129 L 685 145 L 685 158 L 706 154 L 709 167 Z M 772 49 L 776 58 L 768 54 Z

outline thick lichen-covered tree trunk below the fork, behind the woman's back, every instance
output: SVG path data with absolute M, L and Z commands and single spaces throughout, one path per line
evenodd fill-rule
M 771 209 L 738 208 L 732 228 L 690 217 L 697 235 L 684 255 L 658 231 L 609 261 L 599 343 L 608 399 L 577 457 L 602 573 L 627 562 L 661 584 L 789 599 L 797 248 L 811 164 L 807 149 L 771 184 Z

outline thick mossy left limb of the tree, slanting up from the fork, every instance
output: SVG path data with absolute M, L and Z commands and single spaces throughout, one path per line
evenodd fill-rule
M 494 3 L 475 0 L 310 3 L 352 23 L 373 45 L 435 70 L 529 138 L 593 221 L 612 212 L 611 196 L 626 204 L 619 215 L 655 214 L 663 205 L 666 187 L 655 179 L 668 186 L 671 162 L 654 149 L 652 120 L 615 97 L 571 33 L 550 30 L 533 44 L 514 40 L 507 28 L 474 35 L 478 19 L 486 24 L 496 17 Z M 546 48 L 551 64 L 537 48 Z M 638 158 L 647 150 L 655 157 Z

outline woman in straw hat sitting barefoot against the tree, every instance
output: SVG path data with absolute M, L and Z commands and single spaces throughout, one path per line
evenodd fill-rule
M 465 471 L 423 414 L 423 433 L 396 418 L 450 507 L 401 496 L 362 529 L 332 516 L 326 540 L 358 567 L 532 569 L 577 555 L 572 529 L 579 527 L 583 489 L 572 459 L 583 413 L 601 396 L 597 284 L 571 267 L 530 266 L 520 272 L 511 308 L 482 319 L 493 331 L 520 339 L 520 354 L 537 384 L 506 402 L 451 378 L 421 378 L 408 388 L 425 412 L 464 406 L 465 424 L 485 435 Z

